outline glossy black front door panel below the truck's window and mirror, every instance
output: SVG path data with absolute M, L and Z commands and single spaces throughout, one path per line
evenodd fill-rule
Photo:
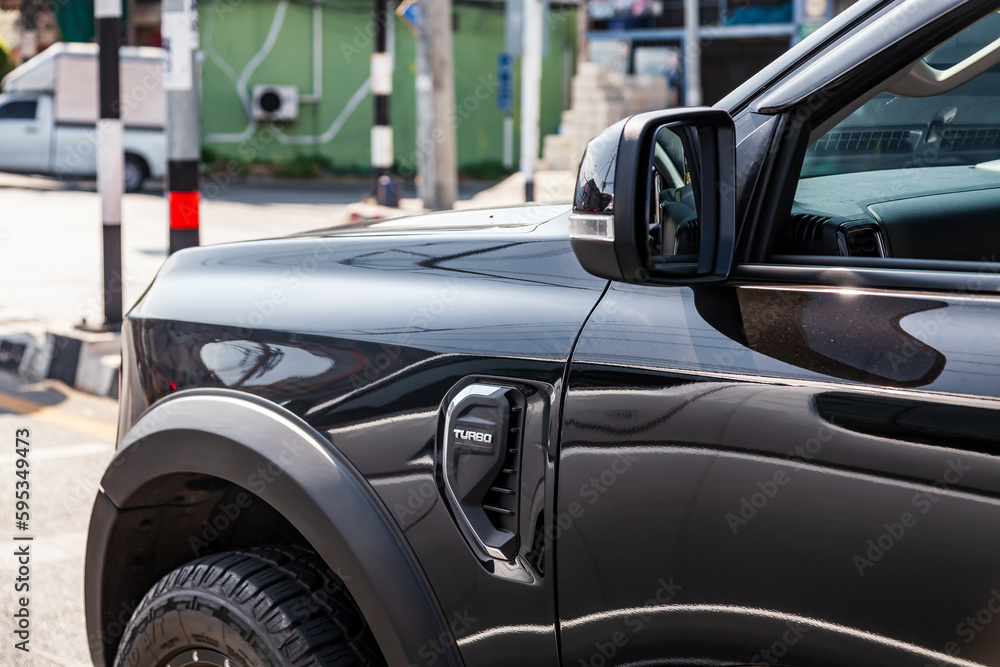
M 564 412 L 564 664 L 1000 664 L 998 306 L 612 289 Z

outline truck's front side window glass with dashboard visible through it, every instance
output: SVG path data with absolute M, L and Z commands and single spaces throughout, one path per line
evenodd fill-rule
M 811 137 L 773 254 L 1000 261 L 998 38 L 993 13 Z

